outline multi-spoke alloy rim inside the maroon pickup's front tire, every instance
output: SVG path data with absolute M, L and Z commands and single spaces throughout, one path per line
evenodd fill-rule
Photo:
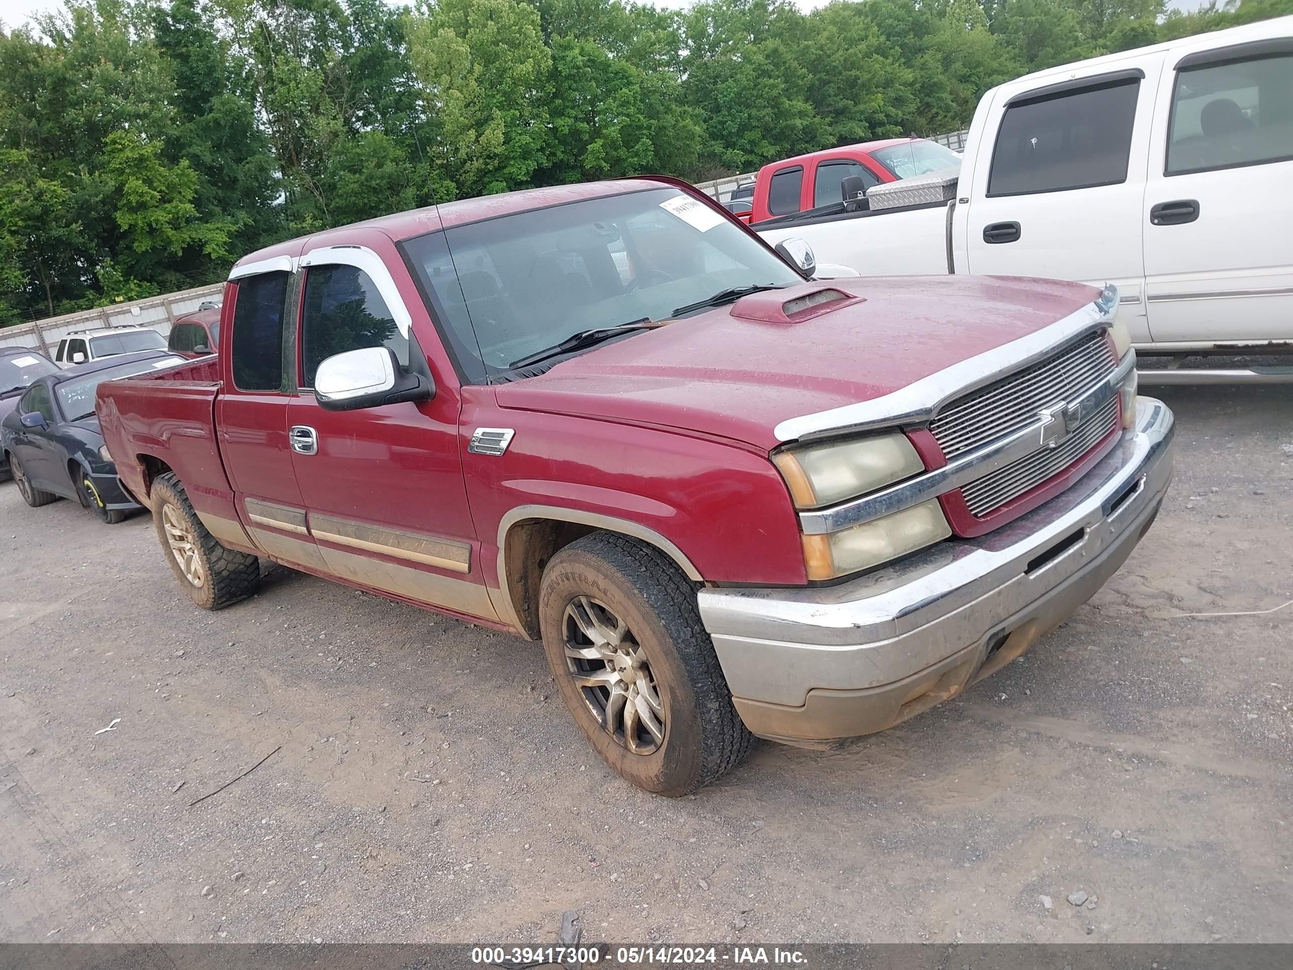
M 603 729 L 634 754 L 665 741 L 665 705 L 641 645 L 604 603 L 577 596 L 562 617 L 566 667 Z

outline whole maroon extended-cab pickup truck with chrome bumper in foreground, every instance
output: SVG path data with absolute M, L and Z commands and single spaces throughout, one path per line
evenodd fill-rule
M 1112 291 L 808 275 L 672 180 L 465 199 L 247 256 L 98 415 L 198 605 L 268 557 L 540 640 L 678 795 L 998 670 L 1168 489 Z

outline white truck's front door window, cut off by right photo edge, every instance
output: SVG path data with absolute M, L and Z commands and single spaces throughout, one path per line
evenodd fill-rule
M 1293 159 L 1293 54 L 1177 74 L 1164 175 Z

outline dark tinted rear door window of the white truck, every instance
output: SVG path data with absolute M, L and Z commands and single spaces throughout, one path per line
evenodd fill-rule
M 1137 78 L 1011 101 L 1001 119 L 988 195 L 1090 189 L 1126 181 Z

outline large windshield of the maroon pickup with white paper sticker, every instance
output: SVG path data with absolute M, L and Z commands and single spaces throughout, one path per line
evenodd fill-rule
M 593 327 L 659 321 L 720 290 L 803 279 L 678 189 L 518 212 L 403 243 L 468 380 Z M 456 270 L 456 272 L 455 272 Z

